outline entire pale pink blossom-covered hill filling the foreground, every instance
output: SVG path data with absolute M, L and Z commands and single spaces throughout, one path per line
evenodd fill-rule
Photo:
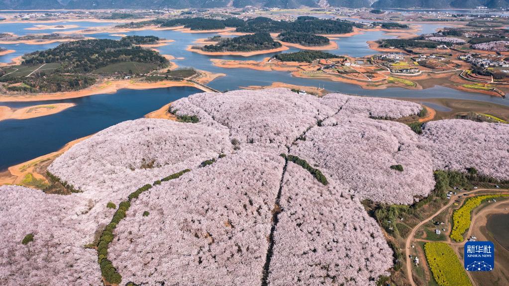
M 234 91 L 172 104 L 198 123 L 107 128 L 48 167 L 79 192 L 0 187 L 0 284 L 375 285 L 392 252 L 362 199 L 412 204 L 435 169 L 509 179 L 507 125 L 381 120 L 421 108 Z

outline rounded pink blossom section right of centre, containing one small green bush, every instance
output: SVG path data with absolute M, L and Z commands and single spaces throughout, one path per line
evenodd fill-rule
M 431 156 L 418 146 L 418 135 L 392 121 L 343 117 L 336 126 L 316 127 L 298 140 L 291 154 L 315 165 L 359 199 L 411 204 L 433 189 Z M 404 171 L 390 168 L 401 164 Z

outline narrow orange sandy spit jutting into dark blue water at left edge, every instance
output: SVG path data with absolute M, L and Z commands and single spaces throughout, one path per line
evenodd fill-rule
M 75 105 L 74 103 L 54 103 L 27 106 L 19 109 L 0 106 L 0 121 L 7 119 L 22 120 L 52 115 Z

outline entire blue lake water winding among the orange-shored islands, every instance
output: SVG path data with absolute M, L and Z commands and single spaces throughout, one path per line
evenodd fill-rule
M 0 22 L 0 33 L 11 32 L 17 35 L 23 33 L 51 33 L 45 30 L 30 31 L 24 30 L 39 23 L 16 23 L 2 24 Z M 45 24 L 45 23 L 40 23 Z M 111 23 L 95 22 L 62 22 L 55 24 L 76 24 L 80 28 L 88 26 L 100 26 Z M 432 33 L 443 25 L 437 24 L 419 24 L 422 33 Z M 392 97 L 392 98 L 456 98 L 470 99 L 477 101 L 493 102 L 509 105 L 509 101 L 500 97 L 491 97 L 482 94 L 461 92 L 450 88 L 436 86 L 426 90 L 407 90 L 403 88 L 390 88 L 386 90 L 364 90 L 358 85 L 333 82 L 327 80 L 296 78 L 289 72 L 266 72 L 251 69 L 226 69 L 212 65 L 211 59 L 231 59 L 231 60 L 256 60 L 272 56 L 273 54 L 261 54 L 249 57 L 243 56 L 208 56 L 186 51 L 188 45 L 192 45 L 196 39 L 212 37 L 216 34 L 192 34 L 175 31 L 136 31 L 124 33 L 127 35 L 148 36 L 154 35 L 160 38 L 172 39 L 175 42 L 158 47 L 163 54 L 170 54 L 181 60 L 174 60 L 179 67 L 194 67 L 200 70 L 206 70 L 214 73 L 223 73 L 225 76 L 219 77 L 210 82 L 210 87 L 220 90 L 236 90 L 248 85 L 270 85 L 274 81 L 285 82 L 297 85 L 307 85 L 325 88 L 329 91 L 345 94 L 354 94 L 373 97 Z M 99 39 L 120 39 L 120 37 L 111 36 L 110 33 L 98 33 L 86 35 Z M 328 52 L 336 54 L 348 54 L 359 57 L 376 53 L 369 48 L 366 41 L 377 40 L 381 38 L 393 38 L 387 36 L 384 32 L 365 32 L 364 34 L 353 37 L 339 38 L 335 40 L 338 49 Z M 35 50 L 47 49 L 58 45 L 53 43 L 48 45 L 0 45 L 8 49 L 16 50 L 5 56 L 0 56 L 0 62 L 10 62 L 12 58 Z M 284 52 L 298 51 L 296 48 L 290 48 Z M 131 120 L 143 117 L 145 114 L 158 109 L 162 105 L 176 99 L 186 97 L 190 94 L 201 92 L 194 88 L 175 87 L 165 89 L 151 90 L 120 90 L 115 94 L 93 95 L 77 99 L 52 100 L 52 101 L 33 101 L 33 102 L 0 102 L 0 105 L 10 106 L 12 108 L 21 108 L 24 106 L 36 104 L 49 104 L 61 102 L 73 102 L 76 106 L 66 109 L 55 115 L 27 119 L 27 120 L 6 120 L 0 121 L 0 170 L 8 166 L 24 162 L 35 157 L 53 152 L 61 148 L 67 142 L 90 135 L 100 131 L 108 126 L 117 124 L 125 120 Z

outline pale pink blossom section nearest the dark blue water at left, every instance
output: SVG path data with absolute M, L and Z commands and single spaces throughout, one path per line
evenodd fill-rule
M 125 121 L 79 142 L 48 170 L 91 198 L 115 204 L 152 183 L 229 153 L 228 130 L 171 120 Z

